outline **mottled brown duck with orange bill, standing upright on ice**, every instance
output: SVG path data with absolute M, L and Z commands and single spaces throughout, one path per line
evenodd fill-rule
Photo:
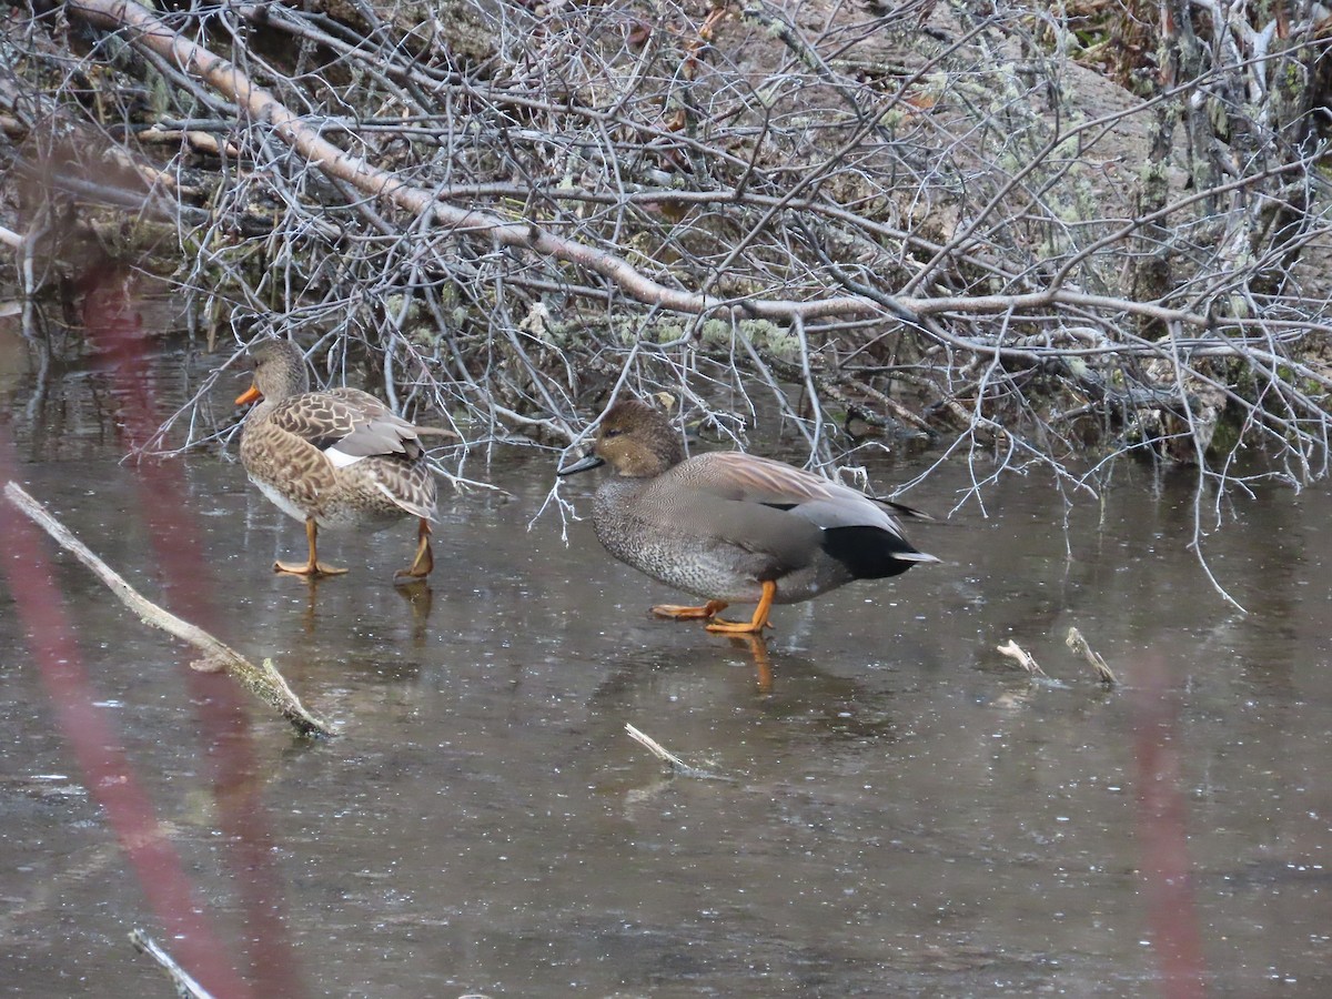
M 360 389 L 310 392 L 305 357 L 290 341 L 265 340 L 249 356 L 254 384 L 236 405 L 258 405 L 245 417 L 241 464 L 280 510 L 305 521 L 310 547 L 304 565 L 274 562 L 273 570 L 305 577 L 345 573 L 318 561 L 320 527 L 373 531 L 416 517 L 416 558 L 397 575 L 426 577 L 434 567 L 436 493 L 420 434 L 433 432 L 413 426 Z

